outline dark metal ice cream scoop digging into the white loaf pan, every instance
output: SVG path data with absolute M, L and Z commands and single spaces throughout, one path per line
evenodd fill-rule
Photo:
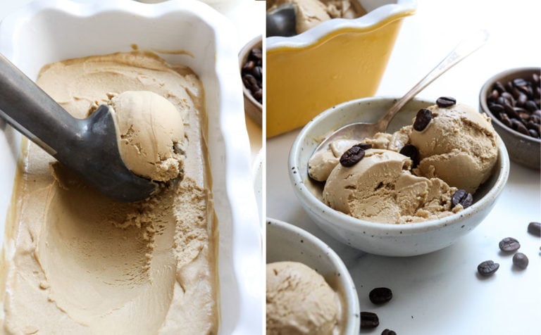
M 108 106 L 74 118 L 1 54 L 0 117 L 114 200 L 139 201 L 158 190 L 124 164 Z

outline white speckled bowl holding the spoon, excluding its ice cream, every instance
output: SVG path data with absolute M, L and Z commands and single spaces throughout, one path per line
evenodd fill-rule
M 392 225 L 359 220 L 326 206 L 320 200 L 321 184 L 308 177 L 308 160 L 314 149 L 321 139 L 342 125 L 359 121 L 375 122 L 393 102 L 394 98 L 390 97 L 347 101 L 325 110 L 311 120 L 301 130 L 291 148 L 290 181 L 306 213 L 325 232 L 344 244 L 377 255 L 422 255 L 450 246 L 483 221 L 495 205 L 509 177 L 509 156 L 503 141 L 498 137 L 499 158 L 495 171 L 473 195 L 473 205 L 456 215 L 439 220 Z M 413 99 L 394 117 L 388 131 L 393 132 L 411 124 L 420 108 L 433 104 L 433 101 Z

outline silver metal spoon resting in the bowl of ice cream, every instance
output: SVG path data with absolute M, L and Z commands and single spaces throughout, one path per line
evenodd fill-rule
M 335 132 L 326 137 L 321 144 L 316 148 L 313 155 L 316 153 L 326 150 L 328 145 L 332 141 L 337 139 L 365 139 L 366 137 L 373 137 L 377 132 L 385 132 L 389 126 L 389 122 L 394 118 L 394 115 L 402 108 L 404 105 L 410 101 L 413 96 L 416 96 L 420 91 L 428 86 L 431 82 L 436 80 L 437 77 L 440 77 L 444 72 L 452 68 L 456 63 L 462 61 L 466 56 L 469 56 L 473 51 L 479 49 L 488 39 L 488 32 L 486 30 L 479 30 L 475 32 L 466 39 L 464 39 L 458 46 L 456 46 L 449 55 L 447 55 L 440 64 L 438 64 L 433 70 L 428 72 L 420 82 L 418 82 L 408 93 L 406 93 L 401 99 L 397 100 L 394 105 L 387 110 L 387 113 L 383 115 L 380 120 L 375 123 L 366 123 L 366 122 L 356 122 L 349 125 L 344 125 L 340 129 L 337 129 Z

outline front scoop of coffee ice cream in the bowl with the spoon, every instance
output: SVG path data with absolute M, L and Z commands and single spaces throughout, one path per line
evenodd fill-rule
M 456 188 L 441 179 L 412 175 L 411 159 L 385 149 L 368 149 L 352 167 L 337 165 L 323 189 L 323 201 L 361 220 L 405 223 L 456 213 Z

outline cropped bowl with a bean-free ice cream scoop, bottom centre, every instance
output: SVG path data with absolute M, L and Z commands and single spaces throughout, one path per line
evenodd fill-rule
M 340 257 L 304 229 L 266 226 L 267 334 L 359 334 L 359 298 Z

